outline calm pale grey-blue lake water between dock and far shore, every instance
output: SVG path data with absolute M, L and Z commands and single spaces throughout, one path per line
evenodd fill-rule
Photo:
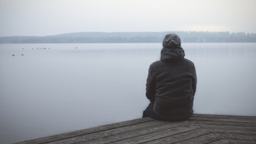
M 256 116 L 256 43 L 183 43 L 195 113 Z M 161 43 L 1 44 L 0 143 L 140 118 Z

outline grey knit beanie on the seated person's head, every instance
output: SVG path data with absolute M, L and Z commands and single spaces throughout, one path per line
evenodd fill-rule
M 165 36 L 163 41 L 164 48 L 181 48 L 181 39 L 178 35 L 171 33 Z

